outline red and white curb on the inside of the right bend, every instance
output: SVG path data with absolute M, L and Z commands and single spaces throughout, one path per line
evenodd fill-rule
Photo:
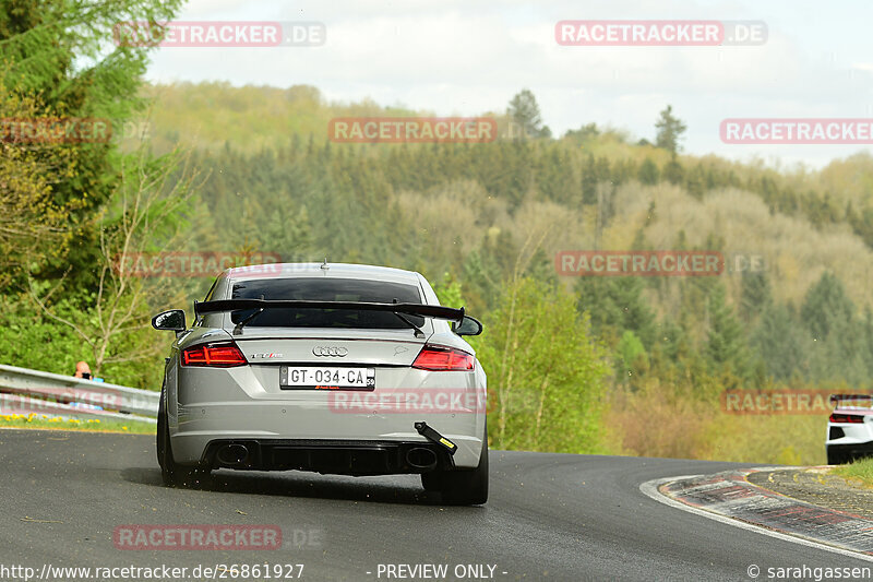
M 661 503 L 763 535 L 873 562 L 873 521 L 770 491 L 749 482 L 760 467 L 654 479 L 639 486 Z

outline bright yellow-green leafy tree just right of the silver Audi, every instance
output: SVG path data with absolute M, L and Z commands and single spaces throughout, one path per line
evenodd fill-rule
M 602 450 L 607 352 L 572 295 L 531 278 L 510 284 L 476 347 L 489 375 L 497 448 Z

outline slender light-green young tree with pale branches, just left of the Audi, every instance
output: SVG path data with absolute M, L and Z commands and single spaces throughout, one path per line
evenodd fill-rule
M 181 174 L 171 180 L 177 168 Z M 74 309 L 77 296 L 52 301 L 63 278 L 53 284 L 28 280 L 29 299 L 47 320 L 71 328 L 88 346 L 95 373 L 107 365 L 155 363 L 165 348 L 152 341 L 148 289 L 132 265 L 145 251 L 175 248 L 177 234 L 188 226 L 184 215 L 195 179 L 179 154 L 148 158 L 145 152 L 127 157 L 120 175 L 97 223 L 100 259 L 92 265 L 97 285 L 83 292 L 94 308 Z

